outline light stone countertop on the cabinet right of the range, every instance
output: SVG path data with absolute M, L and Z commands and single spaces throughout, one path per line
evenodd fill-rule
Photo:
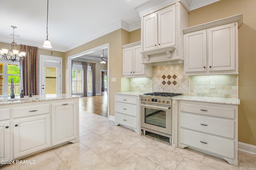
M 201 97 L 201 96 L 178 96 L 172 98 L 174 100 L 188 100 L 195 102 L 211 102 L 211 103 L 219 103 L 219 104 L 233 104 L 240 105 L 240 99 L 234 98 L 214 98 L 214 97 Z

